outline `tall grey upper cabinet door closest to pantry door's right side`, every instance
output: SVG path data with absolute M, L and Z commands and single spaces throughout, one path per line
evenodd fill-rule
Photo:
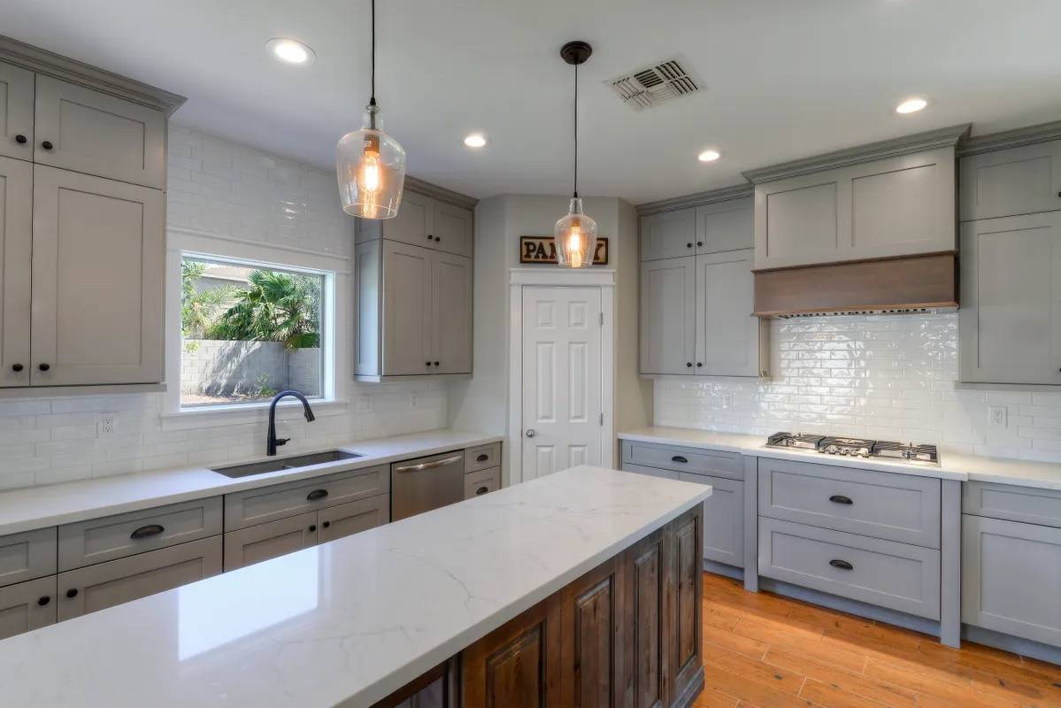
M 641 373 L 692 374 L 696 257 L 641 264 Z

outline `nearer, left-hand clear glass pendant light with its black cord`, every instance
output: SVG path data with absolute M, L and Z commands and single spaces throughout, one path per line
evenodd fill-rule
M 362 219 L 398 215 L 405 186 L 405 151 L 383 132 L 376 105 L 376 0 L 372 3 L 372 96 L 361 129 L 347 133 L 335 148 L 335 174 L 343 211 Z

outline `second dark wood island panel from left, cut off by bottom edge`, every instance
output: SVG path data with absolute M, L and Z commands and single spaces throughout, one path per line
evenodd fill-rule
M 560 702 L 559 595 L 460 653 L 464 708 L 543 708 Z

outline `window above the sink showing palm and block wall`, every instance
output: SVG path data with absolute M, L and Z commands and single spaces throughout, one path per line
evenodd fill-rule
M 180 256 L 181 411 L 264 405 L 278 392 L 332 398 L 334 273 Z

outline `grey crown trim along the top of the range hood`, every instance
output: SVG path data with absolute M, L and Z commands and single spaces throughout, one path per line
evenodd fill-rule
M 748 170 L 742 174 L 744 174 L 745 179 L 758 185 L 766 182 L 798 177 L 823 170 L 850 167 L 860 162 L 870 162 L 887 157 L 919 153 L 925 150 L 954 148 L 958 144 L 958 141 L 969 135 L 971 127 L 971 123 L 952 125 L 937 131 L 916 133 L 889 140 L 871 142 L 866 145 L 846 148 L 824 153 L 823 155 L 804 157 L 758 170 Z

